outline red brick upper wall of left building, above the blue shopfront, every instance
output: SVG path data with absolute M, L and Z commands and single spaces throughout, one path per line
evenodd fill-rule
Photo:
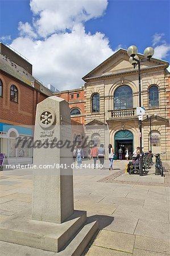
M 44 100 L 44 94 L 36 93 L 35 89 L 2 73 L 0 79 L 3 83 L 3 95 L 0 97 L 0 122 L 14 125 L 34 125 L 36 99 L 38 98 L 38 102 Z M 18 103 L 10 101 L 10 86 L 12 84 L 18 88 Z

